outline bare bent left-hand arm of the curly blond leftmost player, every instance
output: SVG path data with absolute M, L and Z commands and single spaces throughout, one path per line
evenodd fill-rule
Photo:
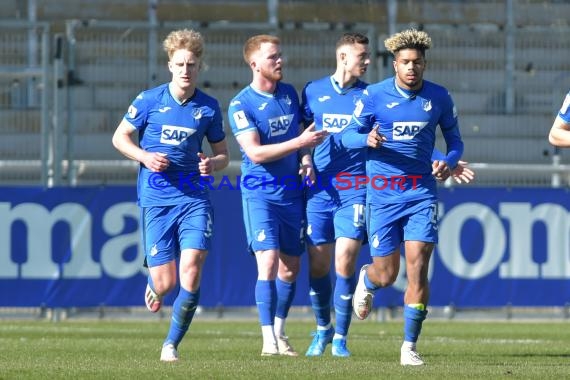
M 133 141 L 136 128 L 123 119 L 113 134 L 113 146 L 124 156 L 138 161 L 153 172 L 166 170 L 170 161 L 166 155 L 159 152 L 147 152 Z

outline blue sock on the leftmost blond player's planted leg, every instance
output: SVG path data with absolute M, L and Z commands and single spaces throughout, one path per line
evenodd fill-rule
M 199 300 L 200 289 L 192 293 L 180 287 L 178 296 L 174 300 L 174 305 L 172 305 L 170 329 L 168 330 L 164 344 L 172 343 L 174 347 L 178 347 L 178 344 L 182 341 L 182 338 L 184 338 L 184 335 L 190 327 Z

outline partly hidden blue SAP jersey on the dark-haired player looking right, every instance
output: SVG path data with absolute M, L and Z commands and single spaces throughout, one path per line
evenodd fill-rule
M 356 189 L 346 183 L 339 185 L 336 176 L 344 173 L 343 181 L 346 182 L 350 176 L 366 174 L 366 150 L 347 149 L 341 139 L 366 86 L 365 82 L 358 80 L 350 87 L 341 88 L 332 76 L 305 85 L 301 95 L 305 126 L 314 121 L 316 130 L 326 130 L 329 133 L 313 150 L 313 165 L 319 180 L 311 189 L 312 193 L 339 196 L 342 199 L 365 191 L 365 187 Z

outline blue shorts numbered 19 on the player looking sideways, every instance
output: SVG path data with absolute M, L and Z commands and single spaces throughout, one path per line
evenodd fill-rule
M 307 202 L 307 243 L 334 243 L 339 237 L 364 240 L 366 236 L 365 204 L 353 198 L 345 204 L 334 200 L 309 198 Z

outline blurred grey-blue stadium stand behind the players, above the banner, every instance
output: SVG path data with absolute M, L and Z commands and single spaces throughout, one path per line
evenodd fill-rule
M 38 183 L 38 162 L 45 158 L 41 152 L 41 120 L 45 115 L 40 107 L 45 89 L 38 78 L 22 75 L 30 68 L 28 28 L 2 24 L 27 20 L 26 2 L 4 3 L 0 14 L 0 152 L 1 167 L 6 170 L 0 172 L 0 181 Z M 79 175 L 74 183 L 132 183 L 136 165 L 113 169 L 113 162 L 122 157 L 112 148 L 110 135 L 128 102 L 147 87 L 148 78 L 157 84 L 168 80 L 159 43 L 173 26 L 197 27 L 204 32 L 206 66 L 200 87 L 216 96 L 225 110 L 230 98 L 249 81 L 241 58 L 243 41 L 261 31 L 281 36 L 287 59 L 285 80 L 299 90 L 307 80 L 332 69 L 332 46 L 346 29 L 372 32 L 378 37 L 373 39 L 377 54 L 366 79 L 376 81 L 389 75 L 391 67 L 382 46 L 391 21 L 387 3 L 281 0 L 278 23 L 271 25 L 266 0 L 36 0 L 35 19 L 50 26 L 52 56 L 55 36 L 65 36 L 61 78 L 52 77 L 55 70 L 50 59 L 50 83 L 55 84 L 49 89 L 49 103 L 52 116 L 56 100 L 61 107 L 57 114 L 62 124 L 59 147 L 65 151 L 58 153 L 77 160 L 79 165 L 76 172 L 67 173 L 68 182 L 73 182 L 69 176 Z M 395 27 L 415 26 L 432 36 L 434 49 L 428 52 L 426 78 L 446 85 L 455 99 L 467 147 L 465 158 L 490 164 L 551 163 L 554 150 L 546 134 L 562 95 L 570 88 L 567 3 L 517 2 L 512 56 L 508 53 L 507 11 L 500 2 L 399 3 Z M 155 29 L 148 25 L 149 12 L 155 12 L 158 20 Z M 156 66 L 149 65 L 151 30 L 157 32 Z M 39 33 L 36 36 L 40 38 Z M 42 54 L 42 45 L 36 43 L 35 68 Z M 509 62 L 510 71 L 506 68 Z M 512 90 L 510 100 L 508 88 Z M 228 141 L 234 160 L 231 170 L 236 170 L 239 149 L 233 137 Z M 567 152 L 557 153 L 563 160 L 568 158 Z M 36 164 L 17 164 L 21 160 Z M 479 183 L 520 181 L 505 182 L 505 178 L 504 173 L 495 173 L 483 176 Z M 543 173 L 522 184 L 548 183 L 549 176 Z

